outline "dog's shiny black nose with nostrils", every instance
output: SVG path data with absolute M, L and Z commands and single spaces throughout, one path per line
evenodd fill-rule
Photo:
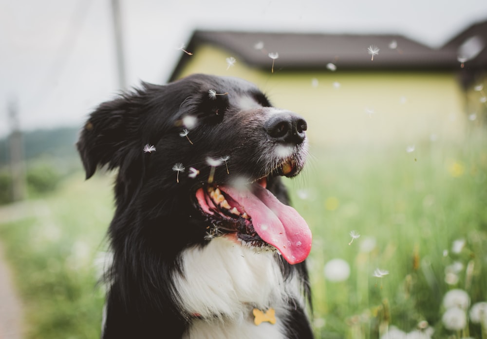
M 306 137 L 304 131 L 308 129 L 308 125 L 298 114 L 284 111 L 270 117 L 265 122 L 264 128 L 272 140 L 298 145 L 304 141 Z

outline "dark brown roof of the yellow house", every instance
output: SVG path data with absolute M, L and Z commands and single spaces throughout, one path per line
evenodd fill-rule
M 279 53 L 275 67 L 281 70 L 323 69 L 329 62 L 339 70 L 455 70 L 460 69 L 457 51 L 465 39 L 479 35 L 487 44 L 487 21 L 475 24 L 450 40 L 441 48 L 431 48 L 399 35 L 351 35 L 317 33 L 263 33 L 200 31 L 193 33 L 187 50 L 195 51 L 202 44 L 228 50 L 237 60 L 250 66 L 266 69 L 272 64 L 268 53 Z M 390 46 L 395 41 L 396 47 Z M 255 45 L 262 42 L 263 49 Z M 367 48 L 377 46 L 380 51 L 371 61 Z M 229 55 L 230 56 L 230 55 Z M 171 80 L 174 80 L 191 58 L 182 54 Z M 475 62 L 474 62 L 475 61 Z M 486 69 L 487 48 L 469 60 L 475 69 Z

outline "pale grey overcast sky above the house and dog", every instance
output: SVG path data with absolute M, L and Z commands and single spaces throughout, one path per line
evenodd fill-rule
M 401 34 L 440 46 L 487 20 L 486 0 L 120 0 L 127 80 L 163 83 L 195 28 Z M 110 0 L 0 0 L 0 137 L 81 126 L 117 93 Z

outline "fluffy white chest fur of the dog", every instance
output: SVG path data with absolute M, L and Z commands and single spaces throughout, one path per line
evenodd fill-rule
M 257 252 L 225 237 L 182 255 L 183 275 L 174 274 L 180 304 L 192 322 L 187 338 L 282 338 L 282 316 L 296 279 L 284 280 L 272 252 Z M 276 310 L 276 324 L 256 326 L 252 308 Z

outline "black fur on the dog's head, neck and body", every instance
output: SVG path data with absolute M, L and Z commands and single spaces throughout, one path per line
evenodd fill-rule
M 210 98 L 209 90 L 219 95 Z M 253 98 L 258 107 L 242 111 L 242 96 Z M 181 338 L 190 325 L 171 292 L 177 287 L 171 273 L 181 270 L 178 255 L 185 248 L 208 242 L 208 220 L 194 202 L 196 188 L 210 176 L 208 157 L 231 157 L 216 168 L 214 183 L 268 175 L 267 188 L 288 203 L 281 178 L 270 173 L 262 157 L 266 132 L 261 116 L 268 107 L 265 96 L 248 82 L 194 75 L 165 86 L 143 83 L 140 89 L 102 103 L 90 115 L 77 143 L 86 178 L 101 166 L 118 168 L 116 211 L 109 228 L 113 264 L 105 277 L 109 292 L 104 339 Z M 180 136 L 188 116 L 197 121 L 188 128 L 192 143 Z M 146 144 L 156 151 L 143 152 Z M 186 167 L 179 182 L 172 170 L 175 163 Z M 188 177 L 190 167 L 200 171 L 196 179 Z M 276 255 L 276 264 L 287 277 L 299 275 L 309 300 L 304 262 L 290 265 Z M 312 337 L 300 307 L 285 322 L 289 338 Z

